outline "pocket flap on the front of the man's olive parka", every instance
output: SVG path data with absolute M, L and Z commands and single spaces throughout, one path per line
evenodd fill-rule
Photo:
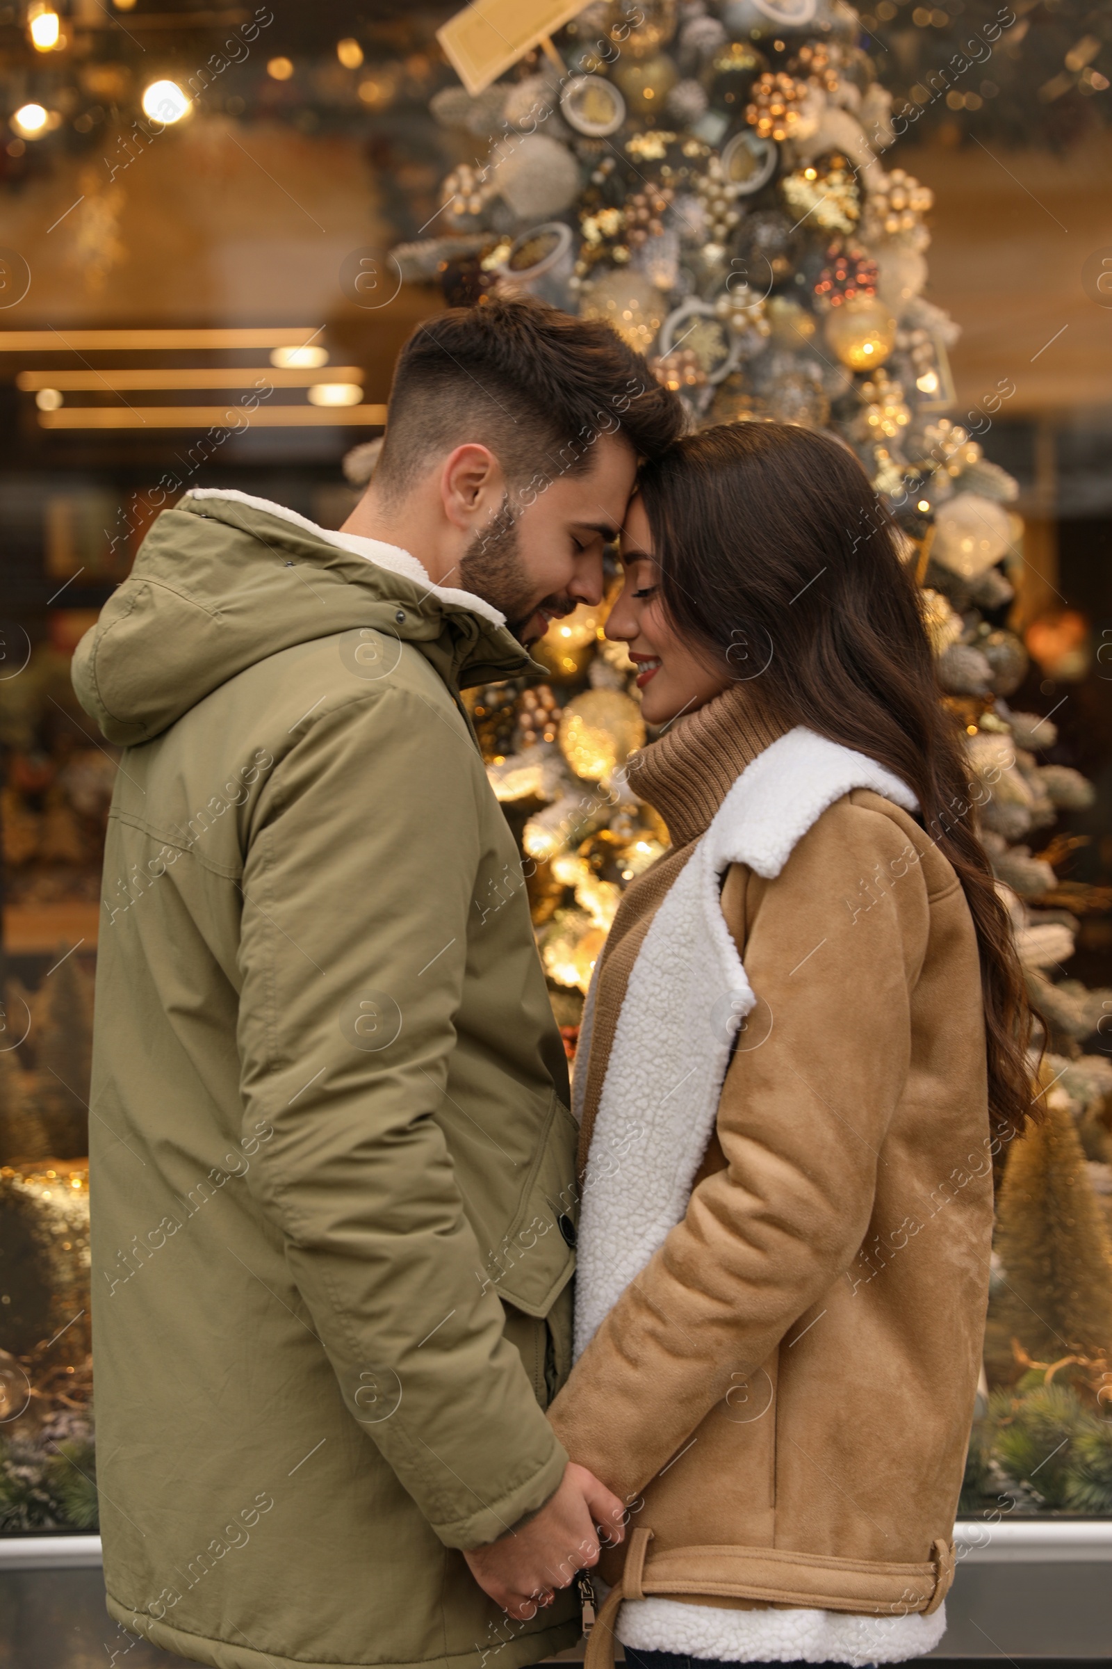
M 517 1215 L 488 1260 L 498 1297 L 537 1319 L 548 1314 L 575 1270 L 577 1143 L 579 1127 L 553 1095 Z

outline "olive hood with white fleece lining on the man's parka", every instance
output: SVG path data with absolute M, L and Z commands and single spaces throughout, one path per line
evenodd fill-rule
M 133 746 L 257 661 L 358 626 L 413 644 L 453 691 L 540 671 L 495 608 L 430 584 L 400 546 L 195 489 L 158 516 L 82 638 L 73 688 L 108 741 Z

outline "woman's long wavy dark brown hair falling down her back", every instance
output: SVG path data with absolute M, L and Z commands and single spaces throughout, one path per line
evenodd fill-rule
M 869 754 L 915 793 L 977 930 L 989 1117 L 1009 1142 L 1039 1117 L 1032 1015 L 892 517 L 847 447 L 789 424 L 685 436 L 644 466 L 640 494 L 675 628 L 752 678 L 777 719 Z

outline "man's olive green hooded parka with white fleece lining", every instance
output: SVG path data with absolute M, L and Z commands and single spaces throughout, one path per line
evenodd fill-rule
M 73 681 L 123 746 L 92 1087 L 108 1611 L 220 1669 L 518 1669 L 460 1549 L 560 1482 L 575 1127 L 460 684 L 502 616 L 237 492 Z M 125 1639 L 120 1641 L 123 1647 Z

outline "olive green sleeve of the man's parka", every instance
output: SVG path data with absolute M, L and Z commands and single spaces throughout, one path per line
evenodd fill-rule
M 480 860 L 475 746 L 382 688 L 313 716 L 243 873 L 248 1185 L 343 1400 L 448 1547 L 502 1535 L 567 1464 L 465 1215 L 442 1105 Z

